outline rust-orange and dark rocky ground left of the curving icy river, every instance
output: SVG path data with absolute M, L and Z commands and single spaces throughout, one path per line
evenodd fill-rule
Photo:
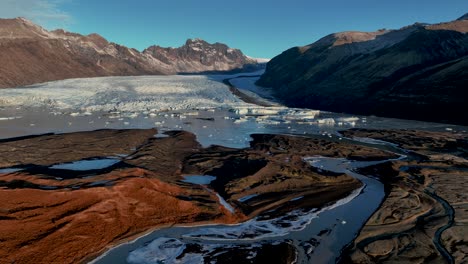
M 314 169 L 304 156 L 394 157 L 320 138 L 254 135 L 251 147 L 230 149 L 203 148 L 188 132 L 156 133 L 98 130 L 2 140 L 1 259 L 76 263 L 156 227 L 235 223 L 275 208 L 320 207 L 361 183 Z M 194 185 L 182 181 L 184 175 L 216 179 Z M 239 200 L 251 194 L 256 197 Z M 307 199 L 291 202 L 298 196 Z

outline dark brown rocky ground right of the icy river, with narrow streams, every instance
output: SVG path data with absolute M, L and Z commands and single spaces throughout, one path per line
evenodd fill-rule
M 405 161 L 365 168 L 387 197 L 343 263 L 468 261 L 468 136 L 410 130 L 348 130 L 347 137 L 386 140 L 409 150 Z

